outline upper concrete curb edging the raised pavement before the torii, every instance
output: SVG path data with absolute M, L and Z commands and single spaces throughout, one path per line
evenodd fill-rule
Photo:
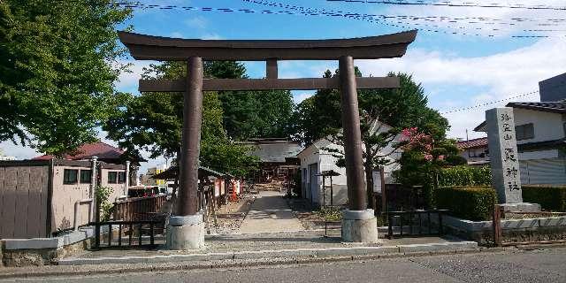
M 157 256 L 119 256 L 60 259 L 58 265 L 88 264 L 161 264 L 212 260 L 257 259 L 270 257 L 324 257 L 324 256 L 379 256 L 384 254 L 405 254 L 439 251 L 457 251 L 462 249 L 478 249 L 475 241 L 443 242 L 430 244 L 413 244 L 386 247 L 348 247 L 328 249 L 279 249 L 257 250 L 228 253 L 192 254 L 192 255 L 157 255 Z

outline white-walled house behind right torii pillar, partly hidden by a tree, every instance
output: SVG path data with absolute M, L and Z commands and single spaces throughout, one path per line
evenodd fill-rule
M 373 133 L 384 133 L 391 129 L 384 123 L 374 123 L 371 131 Z M 388 153 L 394 151 L 389 158 L 391 161 L 401 158 L 401 150 L 394 150 L 393 143 L 399 142 L 399 137 L 395 138 L 385 149 L 380 152 Z M 330 204 L 331 189 L 323 187 L 323 172 L 338 172 L 339 176 L 333 176 L 332 199 L 333 205 L 343 205 L 348 203 L 348 187 L 346 168 L 340 167 L 336 164 L 338 158 L 333 156 L 330 150 L 338 149 L 343 151 L 343 147 L 335 142 L 332 142 L 330 137 L 313 142 L 309 147 L 303 149 L 297 157 L 301 161 L 301 174 L 302 174 L 302 196 L 310 200 L 310 203 L 318 206 L 323 204 Z M 389 164 L 384 168 L 386 183 L 392 182 L 391 173 L 399 169 L 399 164 Z M 379 184 L 381 184 L 379 172 L 373 173 L 374 191 L 380 191 Z M 327 182 L 325 186 L 330 186 Z

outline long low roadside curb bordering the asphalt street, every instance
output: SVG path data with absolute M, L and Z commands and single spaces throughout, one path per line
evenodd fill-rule
M 439 251 L 421 251 L 421 252 L 406 252 L 406 253 L 393 253 L 393 254 L 380 254 L 380 255 L 365 255 L 365 256 L 312 256 L 312 257 L 273 257 L 264 258 L 264 261 L 238 261 L 228 260 L 224 262 L 202 263 L 195 264 L 195 262 L 188 264 L 181 264 L 177 266 L 172 265 L 145 265 L 139 267 L 125 267 L 125 268 L 109 268 L 106 270 L 90 270 L 90 271 L 57 271 L 57 272 L 34 272 L 34 273 L 4 273 L 0 274 L 0 279 L 32 279 L 32 278 L 49 278 L 61 276 L 89 276 L 89 275 L 113 275 L 125 274 L 134 272 L 173 272 L 173 271 L 197 271 L 197 270 L 210 270 L 210 269 L 230 269 L 230 268 L 245 268 L 245 267 L 262 267 L 274 265 L 292 265 L 292 264 L 328 264 L 328 263 L 347 263 L 350 261 L 363 261 L 363 260 L 378 260 L 389 258 L 402 258 L 414 256 L 442 256 L 453 254 L 477 254 L 487 252 L 502 252 L 506 249 L 502 248 L 474 248 L 474 249 L 446 249 Z M 197 262 L 198 263 L 198 262 Z

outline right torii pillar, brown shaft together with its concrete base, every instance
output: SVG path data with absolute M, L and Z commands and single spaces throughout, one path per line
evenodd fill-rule
M 357 103 L 354 58 L 340 57 L 340 93 L 344 156 L 348 185 L 348 210 L 342 212 L 342 240 L 377 242 L 378 222 L 373 210 L 367 209 L 362 156 L 362 133 Z

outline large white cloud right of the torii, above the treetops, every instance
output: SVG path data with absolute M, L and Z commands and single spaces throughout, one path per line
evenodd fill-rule
M 415 80 L 423 82 L 425 86 L 461 85 L 466 88 L 486 88 L 472 96 L 454 93 L 446 98 L 445 105 L 440 103 L 447 106 L 450 102 L 460 102 L 460 107 L 469 107 L 537 90 L 540 80 L 566 72 L 564 50 L 566 42 L 549 38 L 518 50 L 486 57 L 444 56 L 439 52 L 409 49 L 407 55 L 402 58 L 360 60 L 356 61 L 356 65 L 364 74 L 374 76 L 381 76 L 389 71 L 412 73 Z M 524 96 L 516 100 L 532 101 L 538 98 Z M 490 104 L 473 111 L 445 115 L 452 125 L 450 134 L 462 137 L 466 128 L 472 129 L 483 121 L 486 109 L 506 103 Z M 452 107 L 440 111 L 451 109 Z

